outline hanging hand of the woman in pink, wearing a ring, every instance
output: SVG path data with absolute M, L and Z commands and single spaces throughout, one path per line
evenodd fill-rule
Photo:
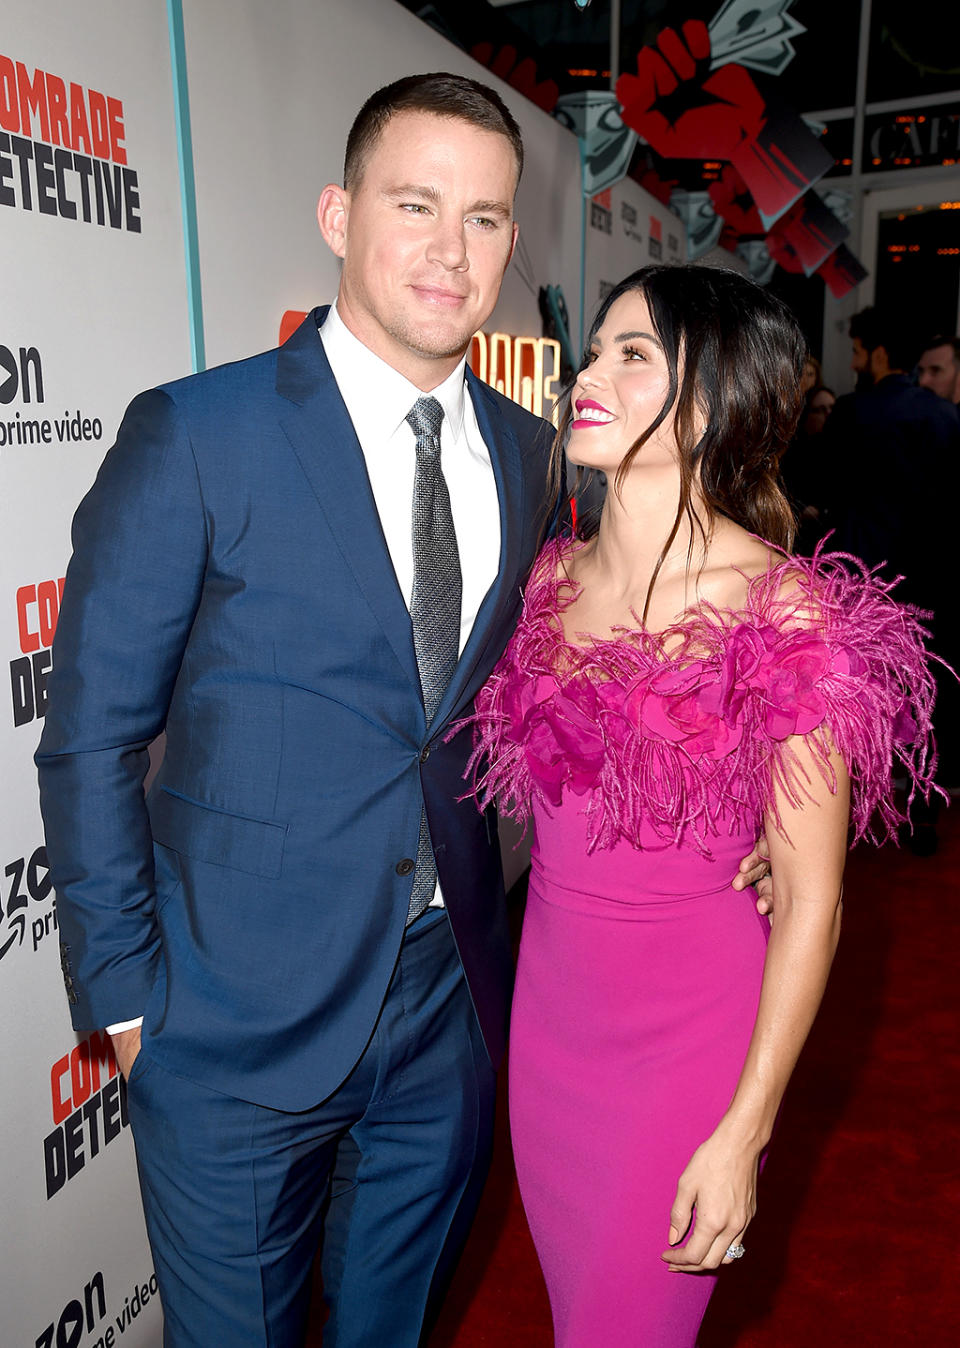
M 661 1259 L 673 1273 L 705 1273 L 731 1263 L 729 1246 L 739 1244 L 756 1212 L 756 1171 L 762 1146 L 744 1144 L 721 1123 L 693 1153 L 680 1177 L 670 1209 L 670 1250 Z M 696 1208 L 696 1225 L 685 1246 Z

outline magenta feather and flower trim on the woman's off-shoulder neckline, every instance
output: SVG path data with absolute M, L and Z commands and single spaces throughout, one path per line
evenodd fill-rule
M 576 545 L 573 545 L 576 546 Z M 618 630 L 585 644 L 564 638 L 577 594 L 562 563 L 569 541 L 541 551 L 523 615 L 476 700 L 467 776 L 483 807 L 526 824 L 537 798 L 587 798 L 591 851 L 662 844 L 708 852 L 708 838 L 758 824 L 777 790 L 801 803 L 805 778 L 790 736 L 804 735 L 831 790 L 831 749 L 851 776 L 853 841 L 883 841 L 933 790 L 934 681 L 925 615 L 890 597 L 895 582 L 843 553 L 789 558 L 748 584 L 738 612 L 707 604 L 665 632 Z M 464 723 L 460 723 L 461 725 Z M 454 728 L 460 729 L 460 725 Z

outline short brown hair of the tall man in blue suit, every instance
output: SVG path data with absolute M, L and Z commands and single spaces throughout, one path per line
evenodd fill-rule
M 367 160 L 383 128 L 398 112 L 430 112 L 436 117 L 458 117 L 481 131 L 506 136 L 516 156 L 516 181 L 523 171 L 523 140 L 510 109 L 498 93 L 477 80 L 437 70 L 406 75 L 372 93 L 356 115 L 347 137 L 344 187 L 360 185 Z

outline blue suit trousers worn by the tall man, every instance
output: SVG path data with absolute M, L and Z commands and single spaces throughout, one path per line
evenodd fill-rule
M 128 1104 L 164 1348 L 297 1348 L 321 1244 L 325 1348 L 415 1348 L 476 1211 L 493 1097 L 436 909 L 406 933 L 361 1058 L 314 1108 L 214 1092 L 147 1042 Z

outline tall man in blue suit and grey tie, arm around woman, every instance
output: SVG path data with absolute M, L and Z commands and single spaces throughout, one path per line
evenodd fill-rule
M 42 803 L 175 1348 L 299 1343 L 321 1233 L 328 1348 L 411 1348 L 479 1197 L 511 961 L 456 724 L 516 619 L 547 429 L 464 360 L 520 166 L 483 85 L 373 94 L 320 198 L 336 307 L 135 399 L 77 515 Z

